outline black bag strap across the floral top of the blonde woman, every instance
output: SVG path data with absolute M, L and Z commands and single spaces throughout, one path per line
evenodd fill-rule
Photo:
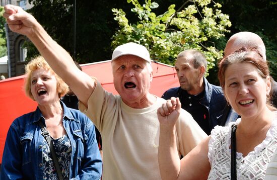
M 61 174 L 61 170 L 60 170 L 60 167 L 59 167 L 59 164 L 58 164 L 58 159 L 57 159 L 57 156 L 56 156 L 56 152 L 55 152 L 54 145 L 53 145 L 52 139 L 50 137 L 50 134 L 47 131 L 47 129 L 44 126 L 44 124 L 42 123 L 42 121 L 39 121 L 38 124 L 39 124 L 39 126 L 41 128 L 41 131 L 42 131 L 41 134 L 42 134 L 42 136 L 45 138 L 45 140 L 47 141 L 47 143 L 49 145 L 50 152 L 51 152 L 51 155 L 52 155 L 52 159 L 54 161 L 54 166 L 55 166 L 57 174 L 58 174 L 58 179 L 59 180 L 63 180 L 63 177 L 62 177 L 62 174 Z

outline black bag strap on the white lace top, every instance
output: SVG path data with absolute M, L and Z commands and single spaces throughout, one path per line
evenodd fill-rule
M 237 179 L 237 157 L 236 157 L 236 130 L 237 125 L 232 125 L 231 131 L 231 179 Z

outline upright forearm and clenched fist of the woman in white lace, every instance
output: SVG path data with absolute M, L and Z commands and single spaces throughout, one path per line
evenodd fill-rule
M 162 179 L 177 179 L 180 171 L 180 158 L 174 131 L 180 109 L 179 98 L 171 98 L 157 110 L 160 122 L 158 161 Z

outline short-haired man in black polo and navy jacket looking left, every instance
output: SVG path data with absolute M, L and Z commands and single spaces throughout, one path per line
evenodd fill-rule
M 175 69 L 180 86 L 168 89 L 162 98 L 179 97 L 182 108 L 210 135 L 221 122 L 226 100 L 222 88 L 210 84 L 204 77 L 206 68 L 206 58 L 200 51 L 185 50 L 179 53 Z

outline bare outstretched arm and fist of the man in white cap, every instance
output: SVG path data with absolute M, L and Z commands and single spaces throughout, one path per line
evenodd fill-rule
M 7 5 L 3 16 L 12 31 L 26 35 L 33 42 L 51 68 L 87 106 L 96 82 L 76 67 L 72 57 L 47 34 L 32 15 L 18 6 Z

